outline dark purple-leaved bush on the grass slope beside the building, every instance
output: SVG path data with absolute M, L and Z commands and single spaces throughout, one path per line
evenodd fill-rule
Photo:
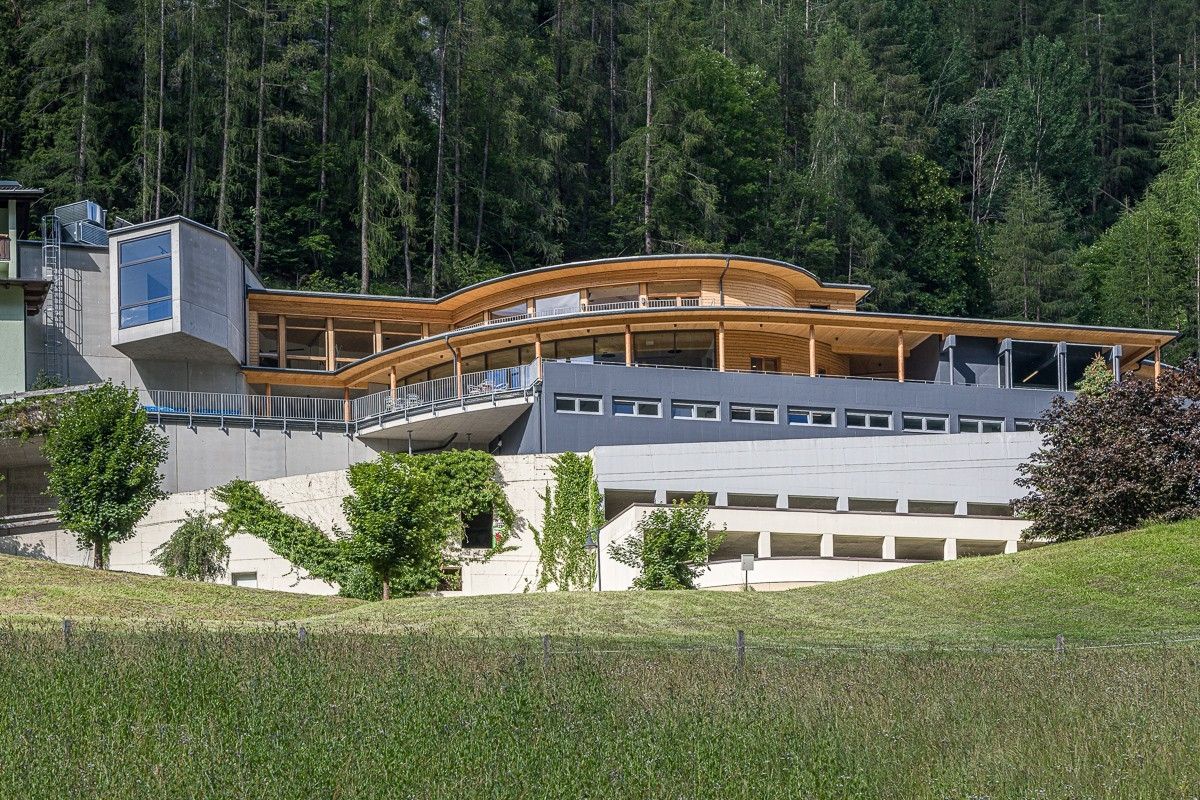
M 1200 363 L 1056 398 L 1042 447 L 1021 464 L 1026 537 L 1066 541 L 1200 516 Z

